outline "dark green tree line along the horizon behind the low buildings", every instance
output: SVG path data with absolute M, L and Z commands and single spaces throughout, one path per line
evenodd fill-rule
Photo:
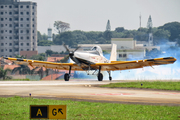
M 60 21 L 61 22 L 61 21 Z M 57 30 L 57 34 L 53 34 L 53 41 L 48 41 L 46 34 L 41 34 L 38 31 L 38 46 L 50 46 L 50 45 L 62 45 L 65 43 L 70 47 L 76 47 L 77 44 L 109 44 L 111 38 L 134 38 L 137 41 L 148 41 L 149 29 L 139 28 L 137 30 L 127 30 L 124 27 L 117 27 L 114 31 L 67 31 L 70 28 L 70 24 L 64 23 L 62 29 L 56 21 L 54 27 Z M 67 28 L 64 28 L 64 27 Z M 161 45 L 166 42 L 177 41 L 180 45 L 180 23 L 171 22 L 166 23 L 163 26 L 151 28 L 153 33 L 153 44 Z

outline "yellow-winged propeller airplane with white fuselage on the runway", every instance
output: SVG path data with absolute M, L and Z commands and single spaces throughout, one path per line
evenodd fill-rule
M 103 56 L 102 49 L 99 46 L 94 46 L 90 51 L 78 51 L 80 47 L 76 48 L 74 51 L 70 51 L 65 44 L 64 47 L 69 52 L 69 57 L 74 61 L 74 63 L 53 63 L 47 61 L 37 61 L 10 57 L 2 58 L 11 60 L 16 64 L 30 65 L 33 68 L 35 68 L 34 66 L 36 66 L 51 69 L 68 70 L 69 73 L 64 74 L 65 81 L 69 81 L 69 78 L 71 76 L 71 70 L 86 71 L 87 73 L 89 73 L 89 71 L 94 71 L 92 75 L 95 75 L 97 73 L 98 81 L 102 81 L 103 74 L 101 73 L 101 71 L 107 71 L 109 74 L 109 80 L 112 80 L 111 71 L 137 69 L 147 66 L 152 67 L 155 65 L 173 64 L 176 61 L 174 57 L 145 59 L 136 61 L 116 61 L 116 44 L 112 44 L 110 60 L 107 60 Z

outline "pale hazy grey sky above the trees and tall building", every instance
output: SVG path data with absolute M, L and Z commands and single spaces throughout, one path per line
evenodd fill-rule
M 30 1 L 30 0 L 20 0 Z M 47 34 L 55 21 L 70 24 L 70 31 L 105 31 L 110 20 L 111 30 L 124 27 L 137 30 L 147 26 L 151 15 L 153 27 L 180 22 L 180 0 L 31 0 L 37 3 L 37 29 Z

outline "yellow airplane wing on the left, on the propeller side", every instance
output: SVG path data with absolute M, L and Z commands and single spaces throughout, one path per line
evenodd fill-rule
M 10 57 L 3 57 L 3 58 L 11 60 L 15 62 L 16 64 L 30 65 L 33 68 L 45 67 L 45 68 L 51 68 L 51 69 L 69 70 L 71 66 L 71 70 L 83 71 L 83 69 L 75 63 L 54 63 L 54 62 L 47 62 L 47 61 L 28 60 L 28 59 L 19 59 L 19 58 L 10 58 Z

